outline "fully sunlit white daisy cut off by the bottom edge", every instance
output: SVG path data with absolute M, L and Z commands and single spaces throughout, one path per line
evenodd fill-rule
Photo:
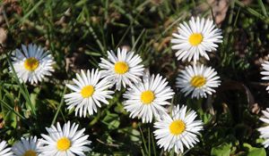
M 89 135 L 84 135 L 85 128 L 78 130 L 79 125 L 70 125 L 70 121 L 62 128 L 59 123 L 47 127 L 48 135 L 42 134 L 39 139 L 39 152 L 43 156 L 85 156 L 89 152 L 91 141 L 87 140 Z

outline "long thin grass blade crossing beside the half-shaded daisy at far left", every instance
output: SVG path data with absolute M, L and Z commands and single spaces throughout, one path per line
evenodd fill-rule
M 29 92 L 27 90 L 27 87 L 25 86 L 25 84 L 23 82 L 22 83 L 20 82 L 20 79 L 18 78 L 18 76 L 16 74 L 16 71 L 14 70 L 13 63 L 10 60 L 10 55 L 8 53 L 5 53 L 5 54 L 6 54 L 7 62 L 10 65 L 10 67 L 11 67 L 11 69 L 13 71 L 13 76 L 15 78 L 15 81 L 20 86 L 20 91 L 21 91 L 24 99 L 26 100 L 27 104 L 30 105 L 30 111 L 32 112 L 34 118 L 36 118 L 36 116 L 37 116 L 36 109 L 35 109 L 34 105 L 30 101 L 30 94 L 29 94 Z

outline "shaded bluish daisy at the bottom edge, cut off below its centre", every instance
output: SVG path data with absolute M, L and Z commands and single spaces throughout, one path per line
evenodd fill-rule
M 21 141 L 13 144 L 13 153 L 16 156 L 37 156 L 38 138 L 36 136 L 22 137 Z

